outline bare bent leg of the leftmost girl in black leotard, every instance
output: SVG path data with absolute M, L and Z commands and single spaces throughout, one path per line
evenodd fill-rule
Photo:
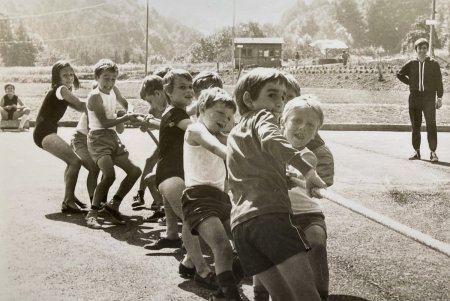
M 64 203 L 70 207 L 77 208 L 74 202 L 75 186 L 77 185 L 78 173 L 81 168 L 81 160 L 78 159 L 69 144 L 57 134 L 47 135 L 42 140 L 42 148 L 66 162 L 67 167 L 64 171 Z

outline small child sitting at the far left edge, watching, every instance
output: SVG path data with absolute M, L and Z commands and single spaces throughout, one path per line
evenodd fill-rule
M 15 89 L 13 84 L 5 85 L 6 94 L 0 100 L 0 122 L 2 120 L 16 120 L 22 117 L 18 129 L 23 131 L 25 123 L 30 119 L 30 109 L 15 94 Z

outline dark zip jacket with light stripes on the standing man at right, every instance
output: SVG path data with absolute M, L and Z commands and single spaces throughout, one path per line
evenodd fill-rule
M 397 73 L 397 78 L 409 85 L 411 92 L 436 92 L 438 98 L 444 94 L 441 68 L 439 63 L 430 57 L 423 62 L 417 58 L 410 60 Z

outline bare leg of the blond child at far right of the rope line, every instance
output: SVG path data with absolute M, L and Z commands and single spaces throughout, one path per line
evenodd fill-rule
M 317 290 L 322 300 L 327 300 L 329 286 L 327 234 L 322 227 L 317 225 L 309 227 L 304 232 L 311 246 L 308 259 L 314 273 Z

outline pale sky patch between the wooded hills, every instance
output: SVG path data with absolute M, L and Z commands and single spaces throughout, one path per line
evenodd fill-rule
M 159 14 L 177 19 L 204 34 L 233 25 L 233 1 L 236 24 L 240 22 L 278 23 L 296 0 L 149 0 Z

